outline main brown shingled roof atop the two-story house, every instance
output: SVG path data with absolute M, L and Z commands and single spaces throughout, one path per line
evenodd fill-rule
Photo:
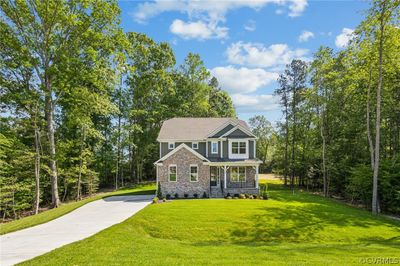
M 157 140 L 203 140 L 224 126 L 240 125 L 250 131 L 245 121 L 237 118 L 185 117 L 164 121 Z

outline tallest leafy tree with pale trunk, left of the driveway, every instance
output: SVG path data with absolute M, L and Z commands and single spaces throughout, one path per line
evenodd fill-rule
M 88 66 L 79 63 L 88 63 L 88 59 L 95 63 L 112 51 L 114 40 L 109 37 L 117 31 L 118 8 L 114 2 L 56 0 L 2 1 L 0 7 L 5 17 L 2 27 L 8 32 L 5 38 L 13 40 L 9 45 L 26 51 L 26 61 L 34 69 L 35 90 L 44 99 L 52 204 L 57 207 L 54 112 L 70 92 L 71 80 L 80 78 L 82 66 Z

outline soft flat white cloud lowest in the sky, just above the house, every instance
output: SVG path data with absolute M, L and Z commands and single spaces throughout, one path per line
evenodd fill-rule
M 241 113 L 279 110 L 278 97 L 271 94 L 232 94 L 233 104 Z

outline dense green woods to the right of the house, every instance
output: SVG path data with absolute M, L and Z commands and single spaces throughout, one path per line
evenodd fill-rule
M 400 213 L 399 5 L 373 1 L 346 49 L 321 47 L 310 63 L 286 66 L 275 131 L 250 119 L 259 158 L 268 143 L 266 163 L 285 184 Z

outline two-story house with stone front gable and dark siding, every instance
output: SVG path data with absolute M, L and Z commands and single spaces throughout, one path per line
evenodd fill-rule
M 154 164 L 164 196 L 222 197 L 258 194 L 257 138 L 236 118 L 172 118 L 164 121 Z

